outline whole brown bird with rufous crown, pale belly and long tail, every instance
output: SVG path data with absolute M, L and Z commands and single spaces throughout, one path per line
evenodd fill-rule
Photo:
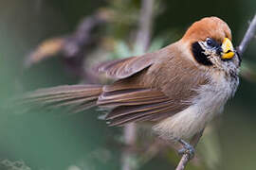
M 187 140 L 224 110 L 239 85 L 241 59 L 231 40 L 227 23 L 205 17 L 155 52 L 97 65 L 99 74 L 115 79 L 111 84 L 39 89 L 24 101 L 74 112 L 100 107 L 109 110 L 110 127 L 150 122 L 160 138 L 183 144 L 182 151 L 193 155 Z

